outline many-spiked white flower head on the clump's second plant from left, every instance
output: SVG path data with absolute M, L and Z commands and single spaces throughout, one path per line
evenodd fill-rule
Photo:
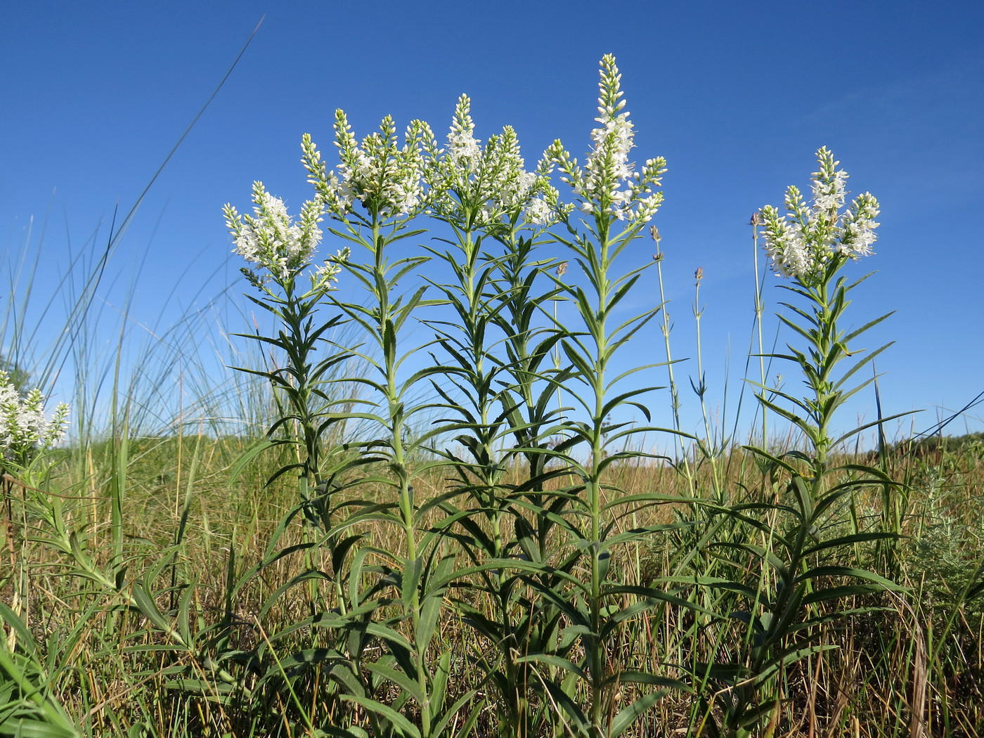
M 434 135 L 423 121 L 415 120 L 406 129 L 404 143 L 397 142 L 397 128 L 387 116 L 380 130 L 359 143 L 342 110 L 335 112 L 335 146 L 338 148 L 338 174 L 327 172 L 321 154 L 307 134 L 302 161 L 308 182 L 336 215 L 345 215 L 359 201 L 370 213 L 384 217 L 410 215 L 423 207 L 424 149 L 433 147 Z

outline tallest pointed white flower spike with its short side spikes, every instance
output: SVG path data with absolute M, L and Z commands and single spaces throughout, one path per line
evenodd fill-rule
M 666 171 L 666 160 L 661 156 L 647 159 L 642 169 L 635 171 L 629 160 L 629 152 L 635 147 L 635 131 L 629 113 L 623 109 L 622 75 L 611 54 L 602 58 L 600 74 L 595 118 L 600 125 L 591 131 L 593 147 L 584 167 L 560 141 L 554 142 L 548 155 L 563 173 L 561 179 L 574 189 L 584 213 L 646 222 L 662 203 L 662 193 L 655 188 Z

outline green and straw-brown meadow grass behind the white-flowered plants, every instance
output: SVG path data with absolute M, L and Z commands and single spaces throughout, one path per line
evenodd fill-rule
M 243 469 L 234 485 L 227 483 L 231 463 L 250 443 L 194 436 L 133 442 L 127 466 L 121 594 L 67 576 L 71 557 L 31 540 L 45 533 L 44 525 L 20 504 L 24 491 L 16 484 L 7 486 L 12 520 L 6 527 L 3 550 L 9 566 L 4 569 L 10 573 L 27 567 L 30 587 L 15 609 L 33 639 L 33 644 L 19 639 L 15 653 L 31 657 L 36 668 L 36 673 L 28 671 L 32 684 L 57 706 L 52 711 L 67 716 L 83 734 L 308 735 L 303 714 L 322 727 L 332 719 L 352 719 L 350 707 L 339 704 L 317 670 L 295 678 L 291 695 L 276 679 L 263 689 L 259 674 L 250 674 L 248 664 L 237 665 L 240 671 L 233 673 L 254 691 L 256 702 L 240 697 L 248 704 L 223 705 L 215 695 L 209 696 L 220 689 L 220 683 L 213 683 L 217 680 L 209 662 L 215 654 L 242 651 L 265 658 L 263 667 L 269 669 L 277 658 L 286 660 L 290 653 L 321 641 L 317 631 L 301 630 L 263 648 L 264 638 L 304 621 L 317 607 L 310 590 L 295 586 L 264 611 L 277 587 L 305 570 L 308 562 L 300 552 L 284 556 L 230 592 L 230 579 L 239 580 L 264 560 L 278 523 L 295 503 L 292 485 L 264 486 L 277 465 L 274 460 L 260 458 Z M 85 459 L 76 460 L 76 453 Z M 84 536 L 94 563 L 108 570 L 112 516 L 105 480 L 112 473 L 112 447 L 104 443 L 85 452 L 69 449 L 67 456 L 52 487 L 66 495 L 69 527 Z M 854 603 L 858 609 L 873 604 L 881 609 L 859 613 L 824 631 L 823 643 L 836 648 L 798 663 L 784 675 L 786 702 L 777 735 L 807 734 L 811 725 L 818 734 L 908 735 L 916 715 L 926 720 L 930 735 L 970 736 L 984 725 L 984 606 L 978 570 L 984 558 L 979 496 L 984 464 L 972 454 L 947 454 L 939 463 L 904 456 L 888 461 L 893 474 L 913 484 L 915 502 L 906 515 L 904 532 L 909 537 L 901 543 L 898 577 L 909 590 L 860 597 Z M 80 468 L 89 468 L 90 474 L 77 478 L 72 470 Z M 630 494 L 653 484 L 667 494 L 686 496 L 688 490 L 685 478 L 661 465 L 626 466 L 618 475 L 620 488 Z M 756 490 L 755 476 L 754 465 L 747 464 L 744 477 L 732 481 Z M 434 478 L 421 486 L 433 494 L 444 483 Z M 859 501 L 868 515 L 878 513 L 877 505 L 876 494 Z M 673 506 L 677 511 L 685 508 Z M 633 524 L 663 523 L 672 517 L 668 509 L 652 511 L 651 516 L 640 514 Z M 182 537 L 176 542 L 178 529 Z M 390 545 L 389 533 L 370 532 L 379 536 L 375 542 L 380 548 Z M 681 528 L 652 535 L 646 545 L 624 551 L 613 567 L 625 582 L 645 584 L 654 574 L 679 567 L 697 534 Z M 279 545 L 289 548 L 303 538 L 295 523 Z M 859 556 L 871 559 L 875 552 L 862 550 Z M 156 574 L 154 581 L 147 580 L 149 573 Z M 126 593 L 141 586 L 153 594 L 168 627 L 187 621 L 195 646 L 191 652 L 176 648 L 137 607 L 127 606 Z M 4 602 L 16 601 L 15 588 L 11 580 L 4 584 Z M 461 596 L 473 606 L 483 605 L 480 593 Z M 712 611 L 728 607 L 726 594 L 711 595 L 695 587 L 688 596 Z M 685 663 L 701 653 L 707 658 L 711 650 L 721 658 L 739 647 L 739 634 L 729 638 L 711 633 L 709 622 L 707 616 L 675 607 L 649 612 L 626 625 L 613 658 L 679 676 L 667 665 Z M 462 625 L 454 607 L 445 609 L 438 632 L 433 651 L 461 656 L 451 662 L 450 699 L 468 686 L 478 686 L 469 658 L 495 656 L 488 643 Z M 912 701 L 920 696 L 921 704 L 913 711 Z M 480 704 L 481 698 L 473 701 Z M 476 735 L 497 734 L 493 714 L 488 707 L 479 710 Z M 360 721 L 358 710 L 354 719 Z M 701 720 L 702 715 L 694 714 L 692 697 L 675 693 L 652 710 L 634 734 L 662 735 L 687 728 L 697 735 Z

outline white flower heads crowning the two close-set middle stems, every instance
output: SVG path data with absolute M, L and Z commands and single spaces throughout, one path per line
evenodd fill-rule
M 550 186 L 552 163 L 544 158 L 535 171 L 524 169 L 516 131 L 507 126 L 484 149 L 475 138 L 471 101 L 462 94 L 455 106 L 446 150 L 431 150 L 428 170 L 434 213 L 469 226 L 515 222 L 534 225 L 557 220 L 557 191 Z

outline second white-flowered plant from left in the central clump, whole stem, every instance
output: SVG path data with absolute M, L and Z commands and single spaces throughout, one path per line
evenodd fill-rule
M 396 126 L 384 118 L 378 132 L 359 141 L 351 132 L 347 119 L 338 110 L 335 122 L 338 169 L 329 172 L 321 154 L 309 136 L 303 141 L 304 164 L 309 181 L 319 198 L 338 222 L 332 232 L 353 244 L 354 251 L 365 257 L 344 264 L 352 279 L 367 294 L 366 302 L 342 302 L 338 308 L 357 326 L 364 338 L 358 355 L 369 367 L 368 376 L 355 381 L 372 393 L 364 407 L 350 413 L 374 424 L 378 436 L 363 443 L 367 453 L 381 461 L 385 473 L 364 480 L 392 490 L 390 499 L 374 506 L 364 518 L 355 515 L 349 523 L 382 523 L 400 532 L 401 549 L 367 546 L 361 556 L 375 556 L 382 576 L 378 583 L 396 586 L 399 613 L 372 626 L 372 636 L 381 638 L 388 653 L 378 659 L 362 659 L 361 653 L 349 664 L 350 673 L 343 677 L 348 691 L 346 699 L 366 709 L 382 721 L 394 735 L 442 735 L 470 693 L 446 706 L 451 652 L 441 653 L 431 668 L 429 648 L 437 634 L 438 620 L 447 586 L 454 580 L 454 557 L 442 546 L 440 529 L 427 529 L 429 510 L 439 506 L 442 497 L 422 502 L 414 494 L 414 481 L 426 474 L 434 462 L 420 460 L 429 442 L 444 432 L 438 423 L 429 432 L 418 433 L 423 413 L 432 403 L 419 400 L 421 383 L 438 374 L 453 374 L 455 369 L 429 366 L 418 371 L 404 371 L 404 361 L 422 346 L 407 348 L 402 341 L 408 323 L 421 319 L 437 300 L 427 299 L 427 285 L 405 290 L 403 280 L 424 267 L 426 255 L 394 258 L 400 242 L 424 231 L 412 227 L 415 216 L 427 205 L 426 173 L 436 151 L 430 127 L 413 121 L 400 144 Z M 392 499 L 392 498 L 391 498 Z M 358 598 L 358 596 L 356 597 Z M 371 602 L 353 602 L 355 612 L 365 617 Z M 366 621 L 340 624 L 368 639 Z M 404 636 L 397 627 L 405 629 Z M 355 654 L 355 648 L 350 648 Z M 393 687 L 404 697 L 397 706 L 383 700 Z M 401 710 L 401 711 L 400 711 Z M 416 718 L 412 725 L 407 717 Z

